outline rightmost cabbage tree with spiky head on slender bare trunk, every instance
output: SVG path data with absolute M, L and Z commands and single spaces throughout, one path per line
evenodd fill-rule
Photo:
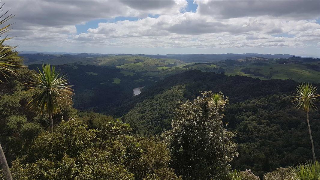
M 313 156 L 314 162 L 316 161 L 316 155 L 313 147 L 313 140 L 311 135 L 310 123 L 309 123 L 309 111 L 311 109 L 317 108 L 313 101 L 318 100 L 318 97 L 320 97 L 320 94 L 317 94 L 316 90 L 317 90 L 316 87 L 312 86 L 312 84 L 309 84 L 309 83 L 299 84 L 298 87 L 296 88 L 296 93 L 294 93 L 295 96 L 293 96 L 293 101 L 292 101 L 293 103 L 297 103 L 296 107 L 298 109 L 302 108 L 307 113 L 307 123 L 309 128 L 311 150 L 312 150 L 312 156 Z

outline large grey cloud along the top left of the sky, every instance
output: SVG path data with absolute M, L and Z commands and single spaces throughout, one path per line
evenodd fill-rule
M 177 13 L 187 5 L 186 1 L 153 0 L 88 0 L 88 1 L 3 1 L 5 7 L 14 7 L 15 20 L 42 26 L 61 27 L 76 25 L 95 19 L 123 17 L 147 17 L 148 14 Z

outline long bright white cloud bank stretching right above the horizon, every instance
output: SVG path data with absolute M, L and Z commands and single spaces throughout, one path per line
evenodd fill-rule
M 100 35 L 94 41 L 121 39 L 121 45 L 128 47 L 137 44 L 148 47 L 202 48 L 305 47 L 304 43 L 308 41 L 320 41 L 319 31 L 320 25 L 314 20 L 286 21 L 260 16 L 217 21 L 198 13 L 186 12 L 137 21 L 99 23 L 98 28 L 88 29 L 86 36 Z M 280 33 L 295 37 L 273 36 Z

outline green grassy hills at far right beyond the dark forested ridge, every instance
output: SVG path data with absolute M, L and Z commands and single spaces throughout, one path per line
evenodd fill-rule
M 226 75 L 242 75 L 261 80 L 291 79 L 297 82 L 320 83 L 320 59 L 315 59 L 314 62 L 307 60 L 304 58 L 266 59 L 253 57 L 216 63 L 196 63 L 183 68 Z

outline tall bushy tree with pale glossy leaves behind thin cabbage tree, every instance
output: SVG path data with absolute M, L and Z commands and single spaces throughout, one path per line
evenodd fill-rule
M 223 150 L 221 143 L 221 119 L 217 119 L 209 105 L 212 92 L 187 101 L 176 110 L 172 129 L 164 133 L 171 151 L 172 168 L 183 179 L 224 179 Z M 223 114 L 220 114 L 220 118 Z M 226 162 L 236 153 L 234 133 L 224 130 Z

